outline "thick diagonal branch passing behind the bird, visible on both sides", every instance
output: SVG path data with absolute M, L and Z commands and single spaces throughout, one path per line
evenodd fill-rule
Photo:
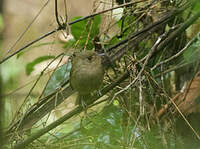
M 133 47 L 133 46 L 137 45 L 139 42 L 141 42 L 143 39 L 145 39 L 148 35 L 152 34 L 152 32 L 155 32 L 157 27 L 159 27 L 160 25 L 163 25 L 163 23 L 165 23 L 171 17 L 173 17 L 174 15 L 176 15 L 177 13 L 180 13 L 180 12 L 182 12 L 182 9 L 180 9 L 179 11 L 172 11 L 172 12 L 168 13 L 160 20 L 148 25 L 141 31 L 133 33 L 129 38 L 127 38 L 124 41 L 117 43 L 116 45 L 107 49 L 107 51 L 110 51 L 114 47 L 117 48 L 118 46 L 124 44 L 118 51 L 116 51 L 110 57 L 111 63 L 116 61 L 117 59 L 119 59 L 120 57 L 122 57 L 124 55 L 124 53 L 127 50 L 127 46 Z M 128 41 L 131 41 L 130 43 L 132 43 L 132 45 L 127 44 Z M 62 103 L 64 101 L 64 99 L 66 99 L 73 93 L 72 91 L 68 91 L 68 90 L 69 89 L 66 88 L 66 89 L 64 89 L 64 92 L 62 91 L 63 93 L 65 93 L 65 96 L 63 96 L 63 93 L 60 90 L 57 90 L 52 95 L 49 95 L 49 96 L 41 99 L 39 103 L 36 103 L 35 105 L 33 105 L 31 107 L 28 114 L 24 117 L 23 120 L 22 119 L 18 120 L 17 122 L 15 122 L 15 124 L 13 124 L 10 127 L 7 134 L 9 134 L 13 131 L 16 131 L 16 126 L 19 125 L 19 121 L 21 121 L 20 126 L 18 126 L 18 128 L 20 128 L 19 130 L 22 130 L 25 126 L 29 126 L 29 128 L 30 128 L 32 125 L 34 125 L 36 122 L 38 122 L 42 117 L 44 117 L 47 113 L 52 111 L 56 106 L 58 106 L 60 103 Z M 56 95 L 57 93 L 59 94 L 59 96 Z M 66 93 L 68 93 L 68 94 L 66 94 Z

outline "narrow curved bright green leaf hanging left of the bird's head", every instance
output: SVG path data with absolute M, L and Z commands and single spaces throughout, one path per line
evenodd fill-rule
M 41 56 L 41 57 L 38 57 L 36 58 L 34 61 L 28 63 L 26 65 L 26 75 L 30 75 L 31 72 L 34 70 L 34 66 L 43 62 L 43 61 L 46 61 L 46 60 L 49 60 L 49 59 L 53 59 L 55 58 L 55 56 Z

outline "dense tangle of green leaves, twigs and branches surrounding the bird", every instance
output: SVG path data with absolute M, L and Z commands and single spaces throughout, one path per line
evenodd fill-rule
M 51 76 L 44 90 L 29 105 L 27 99 L 34 87 L 47 76 L 45 71 L 41 72 L 27 93 L 21 114 L 6 130 L 6 147 L 196 149 L 200 146 L 200 89 L 197 85 L 197 92 L 190 90 L 199 81 L 200 2 L 118 3 L 123 11 L 117 17 L 110 11 L 106 15 L 94 12 L 91 16 L 75 17 L 70 26 L 57 18 L 56 31 L 70 28 L 74 37 L 60 43 L 65 54 L 38 57 L 26 65 L 26 74 L 30 75 L 37 64 L 60 60 L 76 50 L 103 52 L 106 75 L 101 94 L 93 94 L 93 103 L 87 110 L 74 107 L 48 124 L 50 112 L 74 93 L 69 85 L 71 64 L 48 72 Z M 16 54 L 21 57 L 27 51 Z M 185 82 L 189 85 L 181 92 Z

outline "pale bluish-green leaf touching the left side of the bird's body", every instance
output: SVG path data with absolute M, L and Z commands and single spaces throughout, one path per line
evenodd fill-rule
M 63 83 L 69 80 L 71 63 L 58 67 L 51 75 L 44 90 L 44 96 L 56 91 Z

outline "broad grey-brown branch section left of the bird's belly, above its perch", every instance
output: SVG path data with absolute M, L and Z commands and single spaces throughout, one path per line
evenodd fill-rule
M 59 90 L 56 90 L 50 95 L 40 99 L 37 103 L 31 106 L 31 108 L 26 112 L 25 116 L 22 116 L 22 118 L 18 119 L 12 126 L 10 126 L 7 134 L 11 134 L 12 132 L 16 131 L 17 128 L 18 131 L 22 130 L 23 128 L 31 128 L 35 123 L 37 123 L 47 113 L 61 104 L 74 92 L 75 91 L 73 91 L 71 87 L 67 87 L 63 90 L 61 86 Z

